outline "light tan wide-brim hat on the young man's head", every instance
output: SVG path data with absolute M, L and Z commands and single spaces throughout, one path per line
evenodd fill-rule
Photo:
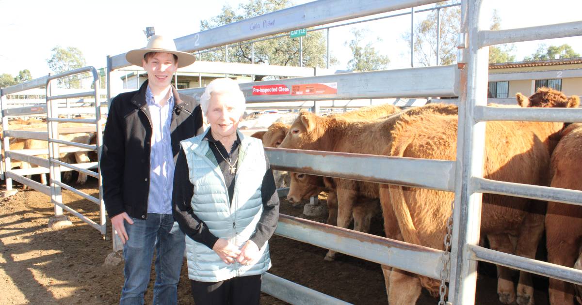
M 141 60 L 144 59 L 145 53 L 150 52 L 163 52 L 163 53 L 171 53 L 173 55 L 178 56 L 178 67 L 186 67 L 190 66 L 196 61 L 196 56 L 186 53 L 176 51 L 176 44 L 173 40 L 164 38 L 162 35 L 153 35 L 148 41 L 147 46 L 143 49 L 135 49 L 125 53 L 125 59 L 131 64 L 135 64 L 136 66 L 142 66 Z

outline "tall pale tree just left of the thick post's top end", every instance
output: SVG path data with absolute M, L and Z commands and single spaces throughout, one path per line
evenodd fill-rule
M 458 3 L 458 0 L 452 3 Z M 445 2 L 438 2 L 441 6 Z M 450 3 L 449 3 L 450 4 Z M 414 26 L 414 59 L 423 66 L 437 63 L 437 10 L 432 10 L 426 19 Z M 456 60 L 457 33 L 460 31 L 460 6 L 440 9 L 439 64 L 452 64 Z M 402 35 L 410 44 L 410 33 Z

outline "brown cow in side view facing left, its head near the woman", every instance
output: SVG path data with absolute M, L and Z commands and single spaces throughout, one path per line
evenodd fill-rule
M 381 155 L 391 141 L 390 131 L 396 119 L 402 113 L 416 116 L 424 112 L 456 114 L 457 107 L 442 104 L 427 105 L 393 114 L 387 119 L 368 121 L 345 120 L 333 116 L 318 117 L 301 112 L 279 147 Z M 347 228 L 353 215 L 354 229 L 367 232 L 376 206 L 374 202 L 379 198 L 378 184 L 337 178 L 332 178 L 332 181 L 336 186 L 338 198 L 338 227 Z M 291 189 L 296 182 L 299 181 L 292 179 Z M 388 236 L 397 238 L 399 234 L 396 221 L 388 224 L 395 225 L 392 230 L 386 229 Z M 326 260 L 333 260 L 334 256 L 335 252 L 329 251 Z

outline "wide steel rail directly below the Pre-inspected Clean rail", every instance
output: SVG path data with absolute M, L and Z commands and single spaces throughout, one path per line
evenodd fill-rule
M 265 148 L 276 170 L 453 191 L 455 162 L 283 148 Z

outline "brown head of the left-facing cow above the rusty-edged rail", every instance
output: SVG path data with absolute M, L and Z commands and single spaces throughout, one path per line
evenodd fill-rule
M 315 142 L 325 134 L 323 126 L 325 122 L 327 122 L 325 118 L 301 111 L 289 127 L 289 131 L 279 147 L 321 150 L 321 148 L 315 147 Z

